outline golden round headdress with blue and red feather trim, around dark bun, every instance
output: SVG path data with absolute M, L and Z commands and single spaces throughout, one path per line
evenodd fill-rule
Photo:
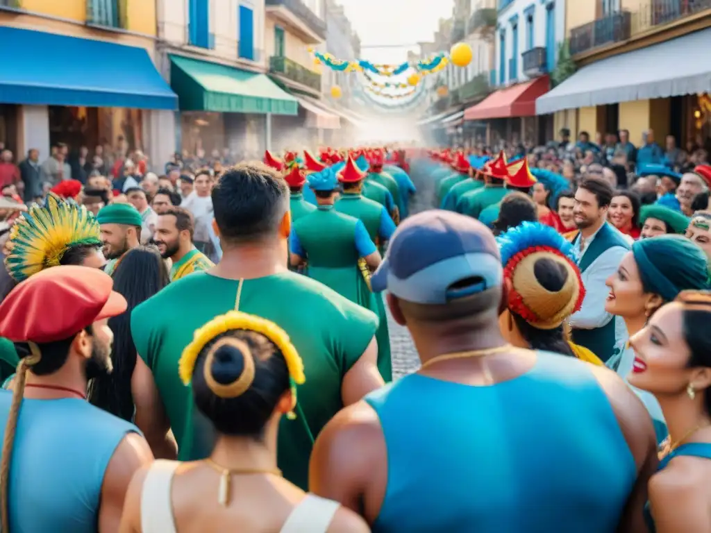
M 508 309 L 535 328 L 552 330 L 578 311 L 585 297 L 577 258 L 570 242 L 550 226 L 523 222 L 499 235 Z M 563 283 L 543 286 L 535 265 L 550 259 L 565 271 Z

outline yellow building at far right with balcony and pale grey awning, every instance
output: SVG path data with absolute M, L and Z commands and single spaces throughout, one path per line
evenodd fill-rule
M 644 144 L 710 147 L 707 92 L 711 2 L 705 0 L 568 0 L 566 26 L 577 72 L 538 102 L 538 112 L 565 114 L 574 132 L 629 130 Z M 602 79 L 601 79 L 602 78 Z

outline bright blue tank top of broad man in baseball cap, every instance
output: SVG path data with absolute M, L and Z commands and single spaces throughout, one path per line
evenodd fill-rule
M 610 532 L 636 480 L 589 363 L 538 352 L 491 387 L 410 375 L 365 397 L 387 448 L 374 533 Z

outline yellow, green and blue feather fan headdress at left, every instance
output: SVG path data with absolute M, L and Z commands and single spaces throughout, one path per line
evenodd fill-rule
M 50 193 L 45 205 L 33 205 L 10 230 L 5 266 L 15 281 L 23 281 L 58 266 L 79 244 L 102 244 L 99 222 L 85 206 Z

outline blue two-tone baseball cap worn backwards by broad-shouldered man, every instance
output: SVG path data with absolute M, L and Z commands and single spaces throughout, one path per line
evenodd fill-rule
M 470 278 L 479 282 L 452 287 Z M 413 303 L 442 304 L 501 286 L 502 279 L 498 245 L 485 225 L 456 212 L 430 210 L 395 230 L 370 285 Z

